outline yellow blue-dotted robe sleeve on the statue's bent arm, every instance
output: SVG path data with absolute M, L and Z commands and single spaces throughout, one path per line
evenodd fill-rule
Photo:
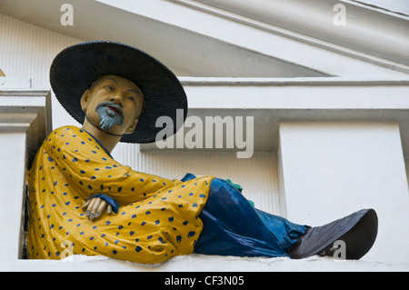
M 52 162 L 84 198 L 104 194 L 129 205 L 182 183 L 120 165 L 91 135 L 73 126 L 55 130 L 45 143 Z

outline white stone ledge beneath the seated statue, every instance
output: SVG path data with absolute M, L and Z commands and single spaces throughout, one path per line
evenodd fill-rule
M 72 261 L 69 261 L 73 258 Z M 4 265 L 3 265 L 4 267 Z M 334 260 L 312 256 L 290 258 L 253 258 L 217 255 L 181 255 L 161 265 L 142 265 L 105 256 L 74 255 L 67 260 L 17 260 L 8 271 L 45 272 L 396 272 L 409 271 L 409 264 L 379 263 L 364 260 Z M 164 281 L 165 283 L 165 281 Z

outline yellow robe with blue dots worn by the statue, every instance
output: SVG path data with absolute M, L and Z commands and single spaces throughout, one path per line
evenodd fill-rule
M 120 165 L 95 138 L 75 126 L 53 131 L 28 171 L 31 259 L 105 255 L 156 264 L 193 253 L 203 229 L 198 217 L 213 176 L 169 180 Z M 81 208 L 104 194 L 117 214 L 94 221 Z

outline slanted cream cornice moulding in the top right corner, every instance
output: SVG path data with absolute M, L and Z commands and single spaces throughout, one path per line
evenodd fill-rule
M 355 1 L 339 0 L 174 0 L 185 5 L 212 10 L 205 5 L 217 7 L 218 15 L 222 11 L 242 15 L 248 19 L 283 28 L 288 35 L 293 33 L 304 42 L 315 42 L 328 49 L 344 54 L 354 54 L 368 61 L 384 62 L 390 65 L 409 65 L 409 16 L 396 14 L 372 5 L 363 5 Z M 205 5 L 197 5 L 196 3 Z M 337 10 L 335 5 L 342 4 L 345 9 L 345 25 L 334 25 Z M 214 12 L 216 13 L 216 12 Z M 289 16 L 291 15 L 291 16 Z M 226 15 L 227 16 L 227 15 Z M 238 20 L 238 17 L 237 17 Z M 245 20 L 242 20 L 245 21 Z M 297 35 L 295 35 L 297 34 Z M 309 38 L 310 36 L 312 38 Z M 374 41 L 376 39 L 376 41 Z M 323 42 L 320 42 L 324 41 Z

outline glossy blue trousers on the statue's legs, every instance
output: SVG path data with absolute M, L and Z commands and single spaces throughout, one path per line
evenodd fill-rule
M 254 208 L 233 185 L 218 178 L 199 217 L 204 227 L 194 252 L 205 255 L 288 256 L 309 228 Z

